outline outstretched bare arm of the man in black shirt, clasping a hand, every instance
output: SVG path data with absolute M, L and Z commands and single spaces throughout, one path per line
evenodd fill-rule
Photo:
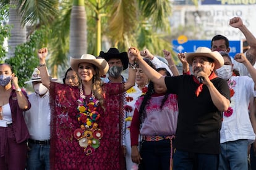
M 139 63 L 140 68 L 142 68 L 145 75 L 148 76 L 148 78 L 153 81 L 153 83 L 159 84 L 163 87 L 166 87 L 164 82 L 164 76 L 162 76 L 160 73 L 158 73 L 156 70 L 150 67 L 141 57 L 140 51 L 136 49 L 135 47 L 130 47 L 128 54 L 132 57 L 131 60 L 134 60 Z M 129 59 L 130 60 L 130 59 Z

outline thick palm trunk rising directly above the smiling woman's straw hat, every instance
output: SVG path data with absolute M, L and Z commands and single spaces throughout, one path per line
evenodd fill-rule
M 87 54 L 87 20 L 84 0 L 74 1 L 70 17 L 69 55 L 80 59 Z

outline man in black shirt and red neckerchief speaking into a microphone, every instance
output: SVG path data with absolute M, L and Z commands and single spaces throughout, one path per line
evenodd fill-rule
M 194 75 L 171 77 L 148 67 L 137 49 L 132 54 L 153 83 L 178 95 L 173 169 L 218 169 L 221 112 L 228 110 L 230 103 L 227 82 L 215 75 L 215 69 L 224 64 L 223 57 L 207 47 L 198 47 L 197 51 L 185 54 Z

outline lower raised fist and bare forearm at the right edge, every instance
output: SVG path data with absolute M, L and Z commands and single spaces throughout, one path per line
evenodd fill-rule
M 245 67 L 247 68 L 247 70 L 250 73 L 251 78 L 254 80 L 254 89 L 256 90 L 256 70 L 255 70 L 255 68 L 252 66 L 252 64 L 249 62 L 249 60 L 247 60 L 244 53 L 236 54 L 234 56 L 234 59 L 237 62 L 243 63 L 245 65 Z

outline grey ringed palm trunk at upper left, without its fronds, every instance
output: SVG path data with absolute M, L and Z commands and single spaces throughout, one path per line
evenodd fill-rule
M 17 1 L 11 0 L 11 5 L 17 6 Z M 11 36 L 8 40 L 8 55 L 7 57 L 14 57 L 15 47 L 27 41 L 27 30 L 25 26 L 21 25 L 19 9 L 10 7 L 9 9 L 9 25 L 12 25 Z

